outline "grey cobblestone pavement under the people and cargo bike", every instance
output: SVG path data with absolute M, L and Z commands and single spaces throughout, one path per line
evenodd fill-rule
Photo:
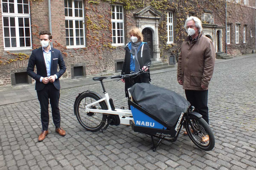
M 215 65 L 208 106 L 210 126 L 216 144 L 201 151 L 180 135 L 176 142 L 162 142 L 153 152 L 150 137 L 130 127 L 109 126 L 102 132 L 86 131 L 77 121 L 73 104 L 79 92 L 88 89 L 101 94 L 100 84 L 61 90 L 61 125 L 67 135 L 50 133 L 38 142 L 41 131 L 40 105 L 30 100 L 0 106 L 0 170 L 4 169 L 256 169 L 256 57 Z M 176 71 L 152 75 L 152 84 L 182 96 Z M 116 107 L 126 107 L 122 82 L 106 82 Z M 181 132 L 182 133 L 182 132 Z

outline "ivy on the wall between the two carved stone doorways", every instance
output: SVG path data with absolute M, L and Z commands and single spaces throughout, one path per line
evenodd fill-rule
M 187 32 L 184 29 L 184 23 L 188 14 L 193 14 L 201 18 L 204 10 L 219 11 L 219 16 L 223 18 L 223 11 L 225 11 L 225 4 L 223 6 L 222 0 L 152 0 L 150 5 L 159 10 L 163 14 L 162 21 L 159 25 L 159 38 L 162 41 L 161 56 L 167 57 L 167 53 L 172 53 L 176 57 L 180 51 L 180 46 L 187 36 Z M 174 44 L 166 44 L 167 42 L 167 14 L 166 11 L 174 12 L 174 19 L 176 21 L 174 26 Z M 224 18 L 223 18 L 224 19 Z

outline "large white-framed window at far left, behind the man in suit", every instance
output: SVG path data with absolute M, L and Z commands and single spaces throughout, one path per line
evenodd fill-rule
M 5 50 L 32 48 L 28 0 L 2 0 L 2 22 Z

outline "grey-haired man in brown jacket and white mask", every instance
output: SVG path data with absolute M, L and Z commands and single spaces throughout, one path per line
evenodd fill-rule
M 195 111 L 209 124 L 208 85 L 213 75 L 215 49 L 213 42 L 202 35 L 200 19 L 191 16 L 185 21 L 184 27 L 189 36 L 182 43 L 178 57 L 178 83 L 185 89 L 187 100 L 195 107 Z

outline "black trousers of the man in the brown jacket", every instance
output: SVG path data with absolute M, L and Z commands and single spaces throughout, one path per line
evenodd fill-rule
M 200 113 L 203 116 L 203 119 L 209 124 L 207 107 L 208 90 L 185 90 L 185 94 L 190 104 L 195 107 L 195 112 Z

